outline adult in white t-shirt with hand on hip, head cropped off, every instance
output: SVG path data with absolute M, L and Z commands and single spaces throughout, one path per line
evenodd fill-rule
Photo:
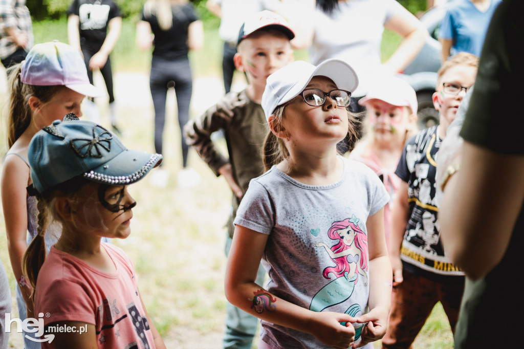
M 350 109 L 364 111 L 357 101 L 366 95 L 374 81 L 384 74 L 402 71 L 417 57 L 428 31 L 420 21 L 396 0 L 317 0 L 310 25 L 297 29 L 295 48 L 310 47 L 310 62 L 337 58 L 357 72 L 358 88 L 352 95 Z M 391 57 L 381 63 L 380 45 L 384 28 L 402 37 Z M 348 146 L 339 150 L 345 152 Z

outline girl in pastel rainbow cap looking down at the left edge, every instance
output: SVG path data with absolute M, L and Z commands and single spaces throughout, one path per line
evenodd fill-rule
M 82 115 L 80 104 L 85 95 L 101 96 L 103 93 L 89 83 L 80 53 L 58 41 L 35 45 L 25 61 L 8 72 L 9 150 L 2 172 L 2 206 L 9 258 L 17 280 L 18 313 L 24 320 L 26 317 L 36 318 L 29 300 L 31 287 L 21 267 L 27 245 L 36 235 L 36 201 L 26 192 L 31 183 L 27 161 L 29 141 L 42 127 L 67 113 Z M 59 235 L 59 227 L 50 227 L 46 234 L 47 245 L 54 244 Z M 40 347 L 39 343 L 26 337 L 34 336 L 34 333 L 23 334 L 26 348 Z

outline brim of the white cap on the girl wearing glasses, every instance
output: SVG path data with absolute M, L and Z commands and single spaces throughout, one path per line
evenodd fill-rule
M 357 73 L 349 64 L 339 59 L 328 59 L 320 63 L 309 75 L 305 75 L 304 78 L 299 80 L 292 89 L 283 97 L 280 104 L 289 102 L 294 97 L 298 96 L 300 92 L 308 85 L 313 77 L 323 76 L 331 79 L 336 87 L 341 90 L 353 91 L 358 86 Z

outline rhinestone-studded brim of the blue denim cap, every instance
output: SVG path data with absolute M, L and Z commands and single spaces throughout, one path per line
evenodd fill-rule
M 132 184 L 142 179 L 161 162 L 162 156 L 160 154 L 127 149 L 104 165 L 84 173 L 84 177 L 106 184 Z

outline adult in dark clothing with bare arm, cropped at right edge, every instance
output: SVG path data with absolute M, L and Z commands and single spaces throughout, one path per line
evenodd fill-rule
M 523 12 L 520 0 L 505 0 L 496 10 L 461 130 L 459 158 L 439 163 L 444 167 L 438 182 L 442 239 L 466 274 L 455 331 L 459 349 L 522 345 L 524 120 L 518 86 L 524 79 Z M 486 326 L 497 322 L 501 328 Z

